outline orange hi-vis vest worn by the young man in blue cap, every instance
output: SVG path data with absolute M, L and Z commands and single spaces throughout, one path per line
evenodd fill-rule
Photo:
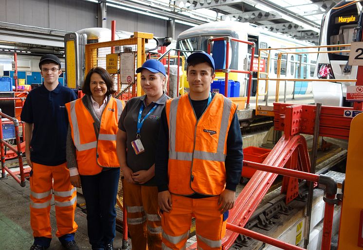
M 222 193 L 226 183 L 227 135 L 236 109 L 235 103 L 216 93 L 197 121 L 188 94 L 166 101 L 170 193 Z

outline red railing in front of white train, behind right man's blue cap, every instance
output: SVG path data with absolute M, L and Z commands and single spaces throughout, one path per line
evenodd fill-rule
M 247 102 L 246 102 L 246 108 L 250 107 L 250 96 L 251 96 L 251 84 L 252 84 L 252 73 L 253 73 L 253 65 L 254 65 L 254 49 L 255 49 L 255 43 L 249 42 L 249 41 L 243 41 L 236 38 L 233 38 L 231 36 L 223 36 L 223 37 L 216 37 L 216 38 L 209 38 L 208 39 L 208 54 L 211 54 L 211 42 L 212 41 L 226 41 L 226 65 L 225 69 L 216 69 L 216 72 L 224 72 L 225 73 L 225 80 L 224 80 L 224 95 L 228 97 L 228 73 L 229 72 L 236 72 L 236 73 L 245 73 L 249 74 L 248 78 L 248 89 L 247 89 Z M 238 70 L 231 70 L 228 67 L 229 64 L 229 44 L 231 41 L 236 41 L 240 43 L 246 43 L 252 46 L 252 52 L 251 52 L 251 62 L 250 62 L 250 71 L 238 71 Z

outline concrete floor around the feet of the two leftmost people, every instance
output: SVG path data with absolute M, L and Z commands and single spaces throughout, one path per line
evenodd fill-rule
M 13 178 L 0 179 L 0 250 L 29 250 L 33 244 L 33 231 L 30 227 L 30 184 L 20 187 Z M 79 200 L 81 199 L 78 198 Z M 53 239 L 49 250 L 63 250 L 64 248 L 55 237 L 56 223 L 54 200 L 51 203 L 51 224 Z M 87 236 L 86 214 L 77 207 L 75 221 L 78 231 L 75 241 L 80 249 L 91 250 Z M 116 232 L 113 246 L 118 249 L 122 245 L 122 234 Z

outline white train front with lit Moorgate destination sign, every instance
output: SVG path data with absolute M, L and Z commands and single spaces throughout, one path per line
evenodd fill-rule
M 335 53 L 321 53 L 317 58 L 317 67 L 314 73 L 316 79 L 327 79 L 326 82 L 312 82 L 312 91 L 315 103 L 326 106 L 351 106 L 346 101 L 348 86 L 354 86 L 355 82 L 339 82 L 334 79 L 356 79 L 358 66 L 348 64 L 350 44 L 362 40 L 362 7 L 363 0 L 347 0 L 337 3 L 322 19 L 320 52 L 336 51 Z

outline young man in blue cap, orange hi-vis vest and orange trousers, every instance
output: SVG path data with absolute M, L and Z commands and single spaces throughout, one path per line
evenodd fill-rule
M 185 249 L 192 217 L 199 249 L 221 249 L 242 171 L 237 106 L 210 92 L 209 54 L 193 53 L 187 63 L 190 91 L 166 102 L 155 163 L 163 249 Z

